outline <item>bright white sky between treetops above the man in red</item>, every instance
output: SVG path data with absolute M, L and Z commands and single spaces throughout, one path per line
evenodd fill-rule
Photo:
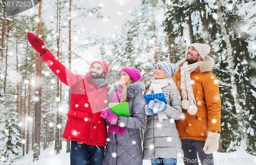
M 63 0 L 61 0 L 64 2 Z M 129 17 L 130 12 L 134 10 L 135 7 L 138 6 L 140 3 L 140 0 L 74 0 L 73 2 L 78 2 L 78 4 L 88 4 L 89 7 L 101 7 L 99 10 L 103 17 L 108 17 L 108 19 L 99 19 L 94 18 L 90 21 L 85 20 L 84 22 L 80 22 L 80 19 L 72 19 L 72 31 L 80 31 L 80 32 L 86 32 L 90 34 L 97 34 L 102 37 L 109 37 L 115 32 L 120 33 L 121 32 L 121 25 L 123 21 Z M 65 4 L 62 4 L 62 6 Z M 74 3 L 73 3 L 74 5 Z M 30 14 L 38 14 L 38 5 L 36 5 L 34 8 L 30 9 Z M 50 1 L 50 0 L 43 0 L 42 1 L 42 22 L 46 23 L 49 29 L 53 29 L 54 33 L 56 33 L 56 0 Z M 67 1 L 67 4 L 65 5 L 65 8 L 69 9 L 69 1 Z M 74 17 L 76 13 L 72 14 L 72 18 Z M 78 13 L 79 14 L 79 13 Z M 63 16 L 68 16 L 68 13 L 61 13 L 62 18 Z M 68 20 L 67 20 L 68 21 Z M 64 20 L 61 21 L 61 24 L 67 24 L 68 22 L 65 22 Z M 79 24 L 80 23 L 80 24 Z M 79 24 L 74 28 L 75 25 Z M 68 40 L 68 29 L 62 30 L 62 37 L 66 38 Z M 54 36 L 54 34 L 52 35 Z M 56 36 L 55 36 L 56 37 Z M 84 36 L 81 33 L 72 33 L 72 45 L 74 43 L 84 42 Z M 75 38 L 78 38 L 77 40 Z M 82 39 L 82 40 L 79 40 Z M 67 42 L 68 43 L 68 42 Z M 72 50 L 75 49 L 75 46 L 72 46 Z M 88 63 L 93 62 L 95 60 L 95 57 L 93 56 L 95 53 L 97 53 L 97 49 L 95 47 L 90 47 L 86 51 L 79 51 L 76 50 L 76 53 L 78 53 L 81 59 L 77 59 L 72 61 L 72 71 L 74 71 L 76 74 L 85 74 L 89 71 L 89 66 L 84 65 L 84 60 L 87 60 Z M 62 45 L 62 52 L 68 53 L 68 45 L 63 44 Z M 88 54 L 93 54 L 88 57 Z M 65 66 L 68 66 L 66 62 L 62 62 Z

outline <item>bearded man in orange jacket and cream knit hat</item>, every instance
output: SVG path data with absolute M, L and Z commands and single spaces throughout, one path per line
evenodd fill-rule
M 219 81 L 211 73 L 215 61 L 207 56 L 210 46 L 190 44 L 186 59 L 177 63 L 174 81 L 182 96 L 183 117 L 177 121 L 184 163 L 214 164 L 219 147 L 221 100 Z M 199 156 L 199 160 L 197 157 Z

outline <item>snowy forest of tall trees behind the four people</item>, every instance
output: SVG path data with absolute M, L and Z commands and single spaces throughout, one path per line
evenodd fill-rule
M 190 43 L 209 44 L 222 103 L 218 152 L 242 148 L 256 156 L 255 1 L 139 0 L 120 31 L 108 35 L 82 26 L 111 19 L 101 12 L 105 1 L 90 6 L 80 0 L 41 0 L 34 8 L 11 16 L 6 15 L 3 2 L 0 163 L 12 164 L 29 152 L 36 161 L 50 146 L 55 155 L 70 152 L 70 142 L 61 136 L 71 93 L 42 62 L 28 42 L 27 32 L 39 36 L 75 74 L 85 75 L 93 61 L 103 59 L 110 66 L 109 86 L 124 66 L 141 71 L 146 84 L 157 62 L 177 63 L 186 57 Z M 144 126 L 140 130 L 143 139 Z M 62 147 L 63 142 L 67 147 Z

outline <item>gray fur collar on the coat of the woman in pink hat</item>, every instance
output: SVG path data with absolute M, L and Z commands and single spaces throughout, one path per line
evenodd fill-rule
M 115 82 L 115 84 L 111 87 L 109 93 L 108 93 L 108 101 L 111 102 L 112 96 L 116 92 L 116 88 L 118 86 L 118 82 Z M 126 88 L 126 94 L 128 97 L 134 98 L 139 93 L 143 92 L 145 90 L 144 84 L 141 81 L 133 82 L 133 84 L 127 86 Z

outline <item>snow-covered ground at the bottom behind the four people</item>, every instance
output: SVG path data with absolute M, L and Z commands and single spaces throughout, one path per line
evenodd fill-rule
M 33 151 L 30 151 L 23 157 L 19 159 L 16 158 L 11 164 L 12 165 L 69 165 L 70 164 L 70 153 L 66 153 L 66 142 L 62 142 L 62 150 L 58 155 L 54 152 L 54 145 L 50 146 L 46 150 L 40 151 L 39 160 L 33 162 Z M 226 165 L 226 164 L 245 164 L 245 165 L 256 165 L 256 156 L 252 156 L 243 150 L 239 150 L 231 153 L 214 153 L 215 164 L 216 165 Z M 0 161 L 0 164 L 3 163 Z M 144 160 L 143 164 L 150 165 L 148 160 Z M 182 160 L 178 161 L 178 165 L 184 164 Z

